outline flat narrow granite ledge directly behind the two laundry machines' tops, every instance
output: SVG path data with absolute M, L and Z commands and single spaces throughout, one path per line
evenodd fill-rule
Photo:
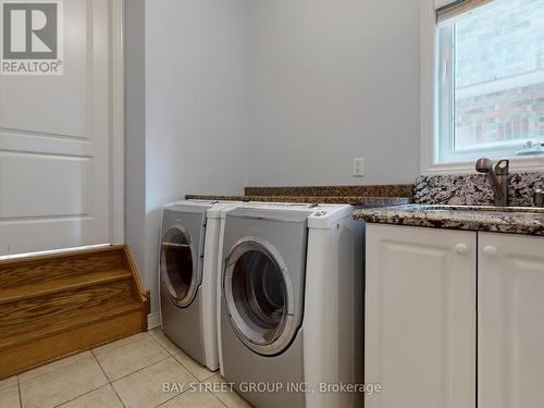
M 226 201 L 265 201 L 265 202 L 319 202 L 346 203 L 364 208 L 405 206 L 411 202 L 409 197 L 359 197 L 359 196 L 213 196 L 187 195 L 188 200 L 226 200 Z

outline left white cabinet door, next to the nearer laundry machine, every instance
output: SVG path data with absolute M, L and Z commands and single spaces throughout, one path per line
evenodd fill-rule
M 474 407 L 477 234 L 367 228 L 366 407 Z

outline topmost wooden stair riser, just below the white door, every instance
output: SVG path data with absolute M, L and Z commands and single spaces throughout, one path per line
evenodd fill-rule
M 0 263 L 0 288 L 14 287 L 34 282 L 59 280 L 89 271 L 107 271 L 121 269 L 124 265 L 121 250 L 109 250 L 97 254 L 82 254 L 75 257 L 42 259 L 33 261 Z

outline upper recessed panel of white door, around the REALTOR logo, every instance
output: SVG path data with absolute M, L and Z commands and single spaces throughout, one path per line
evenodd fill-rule
M 0 127 L 37 135 L 91 136 L 87 121 L 92 109 L 95 2 L 63 2 L 63 75 L 0 78 Z

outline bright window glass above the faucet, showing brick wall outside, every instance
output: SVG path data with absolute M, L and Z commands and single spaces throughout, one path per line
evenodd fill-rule
M 496 0 L 455 33 L 456 148 L 544 140 L 544 0 Z

